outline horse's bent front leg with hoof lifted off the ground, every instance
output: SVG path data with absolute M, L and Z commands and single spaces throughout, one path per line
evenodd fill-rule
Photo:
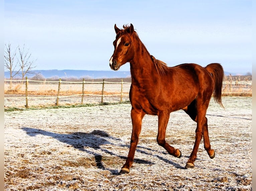
M 165 141 L 165 132 L 166 127 L 168 124 L 168 120 L 170 117 L 170 113 L 168 111 L 160 111 L 158 114 L 158 134 L 157 134 L 157 143 L 165 148 L 165 150 L 175 157 L 181 157 L 181 152 L 179 149 L 175 149 L 174 147 L 170 146 Z

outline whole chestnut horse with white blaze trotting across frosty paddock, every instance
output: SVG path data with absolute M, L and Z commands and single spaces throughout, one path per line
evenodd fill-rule
M 204 148 L 210 158 L 215 157 L 211 149 L 206 110 L 211 96 L 222 107 L 221 90 L 224 76 L 223 68 L 212 63 L 205 68 L 198 64 L 181 64 L 174 67 L 155 59 L 149 54 L 144 44 L 134 31 L 133 25 L 117 28 L 113 42 L 114 53 L 109 61 L 112 70 L 118 70 L 129 62 L 131 71 L 130 102 L 132 105 L 132 135 L 130 149 L 120 173 L 129 173 L 141 131 L 142 118 L 145 114 L 158 116 L 157 143 L 175 157 L 181 157 L 179 149 L 165 142 L 165 131 L 170 112 L 184 110 L 197 122 L 196 139 L 193 151 L 185 168 L 193 168 L 197 151 L 204 136 Z

